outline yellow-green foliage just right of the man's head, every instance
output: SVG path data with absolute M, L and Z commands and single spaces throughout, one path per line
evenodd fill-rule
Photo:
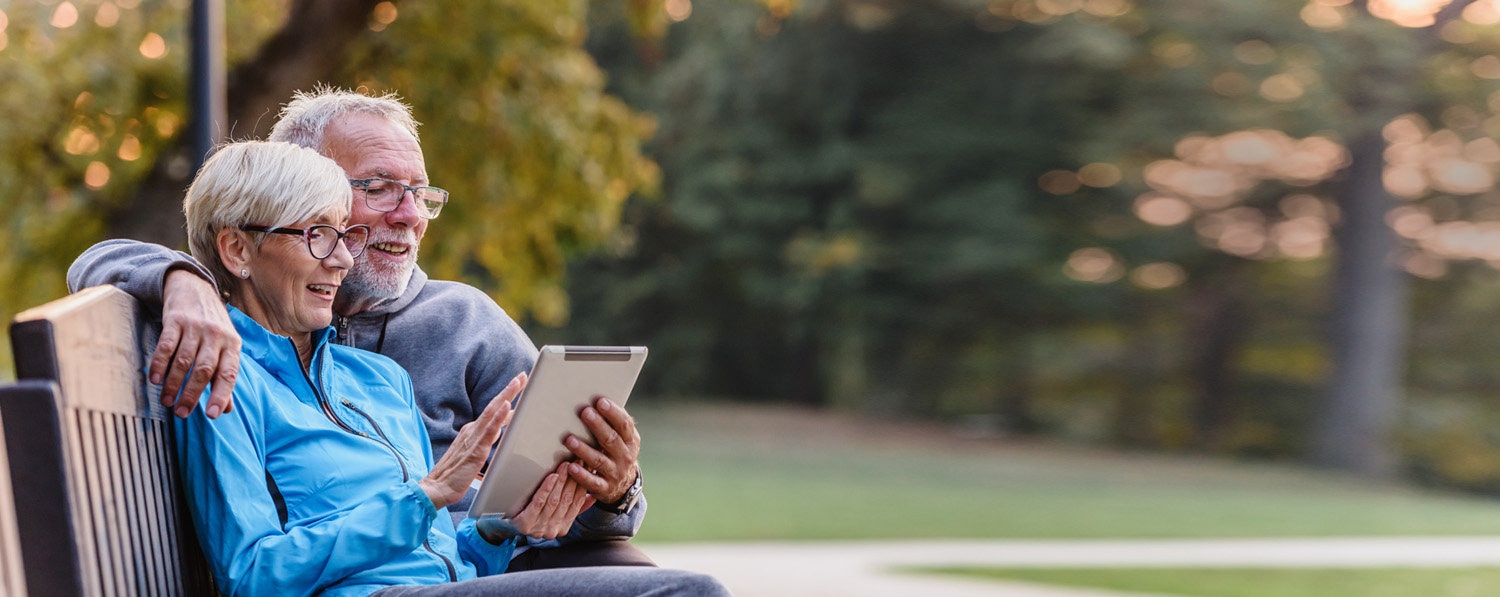
M 580 0 L 410 3 L 346 69 L 412 104 L 429 176 L 453 194 L 423 266 L 544 324 L 568 316 L 566 258 L 603 242 L 624 200 L 658 177 L 639 152 L 651 118 L 603 92 L 582 48 L 586 12 Z

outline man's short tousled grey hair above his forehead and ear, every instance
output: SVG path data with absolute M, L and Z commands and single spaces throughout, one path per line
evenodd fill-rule
M 322 146 L 322 134 L 328 123 L 345 114 L 372 114 L 384 117 L 417 138 L 417 122 L 411 117 L 411 106 L 394 93 L 368 96 L 332 86 L 316 86 L 312 92 L 297 92 L 291 102 L 282 106 L 280 117 L 272 126 L 268 141 L 285 141 L 302 147 L 310 147 L 322 154 L 328 154 Z

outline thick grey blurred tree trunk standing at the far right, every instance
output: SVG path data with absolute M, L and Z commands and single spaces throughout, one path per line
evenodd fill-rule
M 1362 472 L 1389 476 L 1396 468 L 1392 426 L 1401 402 L 1406 374 L 1407 278 L 1396 264 L 1400 242 L 1386 224 L 1395 198 L 1384 188 L 1386 140 L 1382 129 L 1392 118 L 1414 110 L 1401 90 L 1418 86 L 1420 69 L 1442 51 L 1440 32 L 1461 18 L 1476 0 L 1452 0 L 1434 14 L 1432 24 L 1404 30 L 1408 60 L 1368 63 L 1350 84 L 1348 105 L 1366 123 L 1350 135 L 1350 165 L 1336 198 L 1341 222 L 1334 232 L 1336 266 L 1329 304 L 1332 372 L 1312 434 L 1314 462 Z M 1360 18 L 1368 2 L 1350 4 Z M 1350 32 L 1371 28 L 1354 27 Z M 1371 45 L 1366 56 L 1380 54 L 1376 44 L 1396 39 L 1354 38 Z M 1388 57 L 1392 52 L 1384 52 Z

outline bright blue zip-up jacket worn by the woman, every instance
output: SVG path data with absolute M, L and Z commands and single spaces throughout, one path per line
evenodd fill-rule
M 387 357 L 290 338 L 238 309 L 234 410 L 174 424 L 198 540 L 230 596 L 366 596 L 498 574 L 513 543 L 458 530 L 417 484 L 432 468 L 411 380 Z

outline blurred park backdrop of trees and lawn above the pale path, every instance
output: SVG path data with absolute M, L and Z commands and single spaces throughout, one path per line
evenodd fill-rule
M 189 4 L 0 2 L 6 318 L 183 244 Z M 1496 0 L 222 6 L 224 138 L 396 92 L 422 266 L 651 348 L 642 538 L 1500 530 Z

